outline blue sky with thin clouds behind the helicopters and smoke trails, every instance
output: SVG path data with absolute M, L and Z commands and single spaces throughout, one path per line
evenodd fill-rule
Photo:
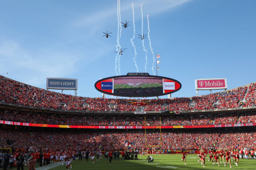
M 130 39 L 135 12 L 136 62 L 145 72 L 145 51 L 138 34 L 148 33 L 160 54 L 158 75 L 181 82 L 172 97 L 196 95 L 194 80 L 227 78 L 228 89 L 255 82 L 256 1 L 121 0 L 121 75 L 137 72 Z M 112 32 L 105 38 L 102 32 Z M 9 0 L 0 5 L 0 75 L 46 88 L 46 77 L 78 79 L 77 95 L 101 97 L 97 80 L 115 72 L 117 0 Z M 147 72 L 153 75 L 149 40 Z M 58 91 L 60 92 L 60 91 Z M 213 91 L 215 92 L 215 91 Z M 74 94 L 73 91 L 64 91 Z M 209 91 L 200 91 L 199 95 Z M 111 96 L 107 95 L 108 98 Z M 167 96 L 162 96 L 166 98 Z

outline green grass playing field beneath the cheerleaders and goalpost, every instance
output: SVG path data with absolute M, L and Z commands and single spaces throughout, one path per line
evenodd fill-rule
M 146 161 L 147 156 L 138 156 L 138 160 L 129 160 L 124 161 L 121 160 L 121 157 L 118 160 L 112 160 L 111 164 L 109 164 L 109 160 L 106 158 L 100 159 L 97 161 L 95 159 L 95 163 L 92 164 L 91 159 L 86 162 L 85 159 L 83 161 L 72 161 L 72 169 L 71 170 L 215 170 L 215 169 L 230 169 L 230 166 L 224 167 L 224 164 L 221 164 L 221 167 L 218 165 L 212 165 L 211 162 L 208 162 L 208 158 L 206 158 L 206 164 L 203 168 L 200 163 L 197 163 L 197 155 L 187 155 L 187 164 L 184 165 L 183 161 L 180 161 L 182 155 L 159 155 L 153 156 L 154 163 L 148 163 Z M 59 164 L 59 163 L 58 163 Z M 256 169 L 256 160 L 251 159 L 240 159 L 238 166 L 235 165 L 234 162 L 231 162 L 232 169 L 239 170 L 255 170 Z M 59 165 L 52 170 L 66 170 L 66 166 Z

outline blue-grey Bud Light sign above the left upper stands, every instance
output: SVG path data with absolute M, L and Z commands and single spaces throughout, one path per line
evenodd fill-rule
M 47 78 L 46 88 L 50 89 L 77 89 L 77 79 Z

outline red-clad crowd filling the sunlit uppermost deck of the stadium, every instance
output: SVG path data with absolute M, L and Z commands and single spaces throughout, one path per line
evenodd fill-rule
M 84 98 L 47 91 L 0 75 L 0 101 L 41 108 L 85 111 L 136 111 L 129 99 Z M 192 98 L 152 99 L 144 111 L 205 110 L 256 106 L 256 84 Z M 140 108 L 141 109 L 141 108 Z

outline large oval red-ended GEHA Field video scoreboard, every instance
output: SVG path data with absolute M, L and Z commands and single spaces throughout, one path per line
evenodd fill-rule
M 134 76 L 138 74 L 139 76 Z M 146 73 L 107 77 L 98 80 L 95 88 L 109 95 L 123 97 L 154 97 L 167 95 L 180 90 L 181 84 L 175 79 L 161 76 L 143 75 Z

